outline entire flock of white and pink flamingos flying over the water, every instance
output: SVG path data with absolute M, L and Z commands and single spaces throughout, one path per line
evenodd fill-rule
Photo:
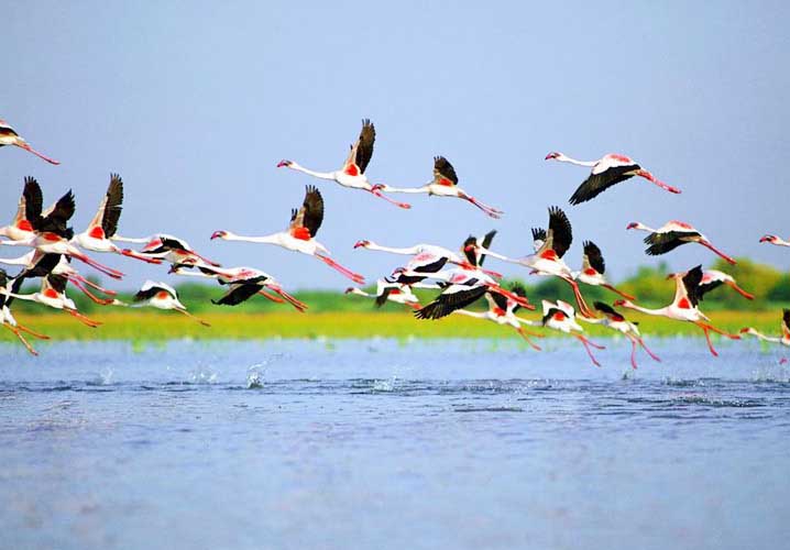
M 293 161 L 282 161 L 277 167 L 287 167 L 303 172 L 319 179 L 333 180 L 351 189 L 370 193 L 372 196 L 386 200 L 392 205 L 408 209 L 406 202 L 393 199 L 389 194 L 427 194 L 437 197 L 454 197 L 465 200 L 479 208 L 491 218 L 500 218 L 503 212 L 471 196 L 459 185 L 459 178 L 450 162 L 443 156 L 434 158 L 432 179 L 416 188 L 397 188 L 388 185 L 373 184 L 365 175 L 367 164 L 373 156 L 375 142 L 375 128 L 369 120 L 362 121 L 362 131 L 356 142 L 351 145 L 345 162 L 334 172 L 315 172 L 305 168 Z M 6 121 L 0 120 L 0 146 L 15 145 L 33 153 L 44 161 L 58 164 L 40 152 L 20 136 Z M 608 154 L 597 161 L 577 161 L 562 153 L 549 153 L 547 161 L 574 164 L 591 168 L 588 178 L 579 186 L 570 198 L 571 205 L 579 205 L 597 197 L 610 187 L 630 179 L 643 178 L 661 189 L 679 194 L 676 187 L 665 184 L 644 169 L 639 164 L 627 156 Z M 198 254 L 183 239 L 155 234 L 142 239 L 124 238 L 117 233 L 123 201 L 123 182 L 120 176 L 111 175 L 107 194 L 99 205 L 96 216 L 80 233 L 69 227 L 69 219 L 75 211 L 74 195 L 69 190 L 48 209 L 43 209 L 43 194 L 37 182 L 28 177 L 19 201 L 19 208 L 12 222 L 0 228 L 0 244 L 9 246 L 24 246 L 30 252 L 17 258 L 0 258 L 0 263 L 20 266 L 20 272 L 10 277 L 4 270 L 0 270 L 0 321 L 3 327 L 12 331 L 33 354 L 36 351 L 29 343 L 25 334 L 39 339 L 47 339 L 29 327 L 17 322 L 11 315 L 14 300 L 31 300 L 61 309 L 74 316 L 77 320 L 89 327 L 99 323 L 77 311 L 72 299 L 66 296 L 66 286 L 72 283 L 84 292 L 94 301 L 107 306 L 128 306 L 117 298 L 113 290 L 103 288 L 88 280 L 74 266 L 74 260 L 98 270 L 108 277 L 120 279 L 122 273 L 89 257 L 85 251 L 110 252 L 131 258 L 171 265 L 169 273 L 208 277 L 217 279 L 227 290 L 215 304 L 235 306 L 253 296 L 287 302 L 299 311 L 305 311 L 307 305 L 288 294 L 283 286 L 267 273 L 252 267 L 221 267 Z M 308 254 L 320 260 L 328 266 L 337 270 L 343 276 L 358 285 L 364 284 L 364 278 L 351 270 L 340 265 L 331 258 L 329 251 L 316 240 L 318 230 L 323 221 L 323 199 L 315 186 L 307 186 L 305 198 L 299 209 L 292 210 L 290 223 L 287 229 L 264 237 L 244 237 L 231 231 L 216 231 L 211 239 L 226 241 L 245 241 L 252 243 L 275 244 L 287 250 Z M 712 242 L 695 228 L 682 221 L 669 221 L 658 229 L 649 228 L 643 223 L 629 223 L 628 230 L 646 231 L 646 253 L 649 255 L 666 254 L 671 250 L 685 244 L 698 243 L 710 249 L 731 264 L 735 260 L 715 248 Z M 717 332 L 724 337 L 739 339 L 740 334 L 731 334 L 713 324 L 700 310 L 703 296 L 722 285 L 729 286 L 747 299 L 753 296 L 742 289 L 732 276 L 720 271 L 703 271 L 698 265 L 684 273 L 674 273 L 669 278 L 674 279 L 676 293 L 672 301 L 660 309 L 647 309 L 635 304 L 636 298 L 629 296 L 614 286 L 605 277 L 605 263 L 601 250 L 592 241 L 584 241 L 582 265 L 579 271 L 572 271 L 562 260 L 571 245 L 573 234 L 571 223 L 566 212 L 558 208 L 548 209 L 548 226 L 531 230 L 534 253 L 525 257 L 514 258 L 491 250 L 496 231 L 481 237 L 468 238 L 458 252 L 432 244 L 416 244 L 409 248 L 389 248 L 371 241 L 359 241 L 355 249 L 378 250 L 394 254 L 410 256 L 405 266 L 395 270 L 392 275 L 376 280 L 375 294 L 367 294 L 359 287 L 352 287 L 347 294 L 356 294 L 375 298 L 381 306 L 391 300 L 406 305 L 414 309 L 418 319 L 440 319 L 451 314 L 465 315 L 479 319 L 493 321 L 497 324 L 509 326 L 515 329 L 536 350 L 540 348 L 533 338 L 542 338 L 542 334 L 528 330 L 525 327 L 542 327 L 553 329 L 575 337 L 586 350 L 591 361 L 599 365 L 591 348 L 602 349 L 584 336 L 584 329 L 578 321 L 597 323 L 612 330 L 622 332 L 632 344 L 630 363 L 636 369 L 636 352 L 640 346 L 656 361 L 656 356 L 646 345 L 636 323 L 628 321 L 615 307 L 634 309 L 644 314 L 662 316 L 678 321 L 693 322 L 700 327 L 707 341 L 713 355 L 717 355 L 711 343 L 710 332 Z M 776 235 L 765 235 L 760 242 L 768 242 L 781 246 L 790 246 L 790 241 Z M 116 243 L 141 244 L 140 250 L 122 249 Z M 515 263 L 529 270 L 531 275 L 559 277 L 573 290 L 575 307 L 562 300 L 542 300 L 542 318 L 529 320 L 516 315 L 519 309 L 534 310 L 522 285 L 513 284 L 508 287 L 501 285 L 502 275 L 483 268 L 487 256 Z M 41 290 L 33 294 L 20 294 L 22 283 L 28 278 L 41 278 Z M 613 305 L 595 301 L 593 307 L 584 301 L 579 283 L 602 286 L 619 296 Z M 432 288 L 439 290 L 436 298 L 427 305 L 420 305 L 413 293 L 414 288 Z M 97 296 L 97 294 L 105 297 Z M 487 310 L 472 311 L 465 309 L 480 299 L 485 299 Z M 191 316 L 186 307 L 178 300 L 176 290 L 161 282 L 146 280 L 134 296 L 133 306 L 153 306 L 160 309 L 175 309 L 186 316 Z M 577 314 L 578 310 L 578 314 Z M 197 319 L 202 324 L 205 321 Z M 753 328 L 745 328 L 740 333 L 753 334 L 759 339 L 778 342 L 790 346 L 790 309 L 784 309 L 781 322 L 781 336 L 772 338 L 759 333 Z

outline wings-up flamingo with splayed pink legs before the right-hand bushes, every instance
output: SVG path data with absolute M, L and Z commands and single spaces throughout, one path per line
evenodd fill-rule
M 615 306 L 634 309 L 641 311 L 643 314 L 667 317 L 678 321 L 693 322 L 700 327 L 705 333 L 705 340 L 707 341 L 707 348 L 711 350 L 711 354 L 717 358 L 718 353 L 711 343 L 711 331 L 718 334 L 725 336 L 733 340 L 739 340 L 738 334 L 729 334 L 721 329 L 715 328 L 710 323 L 710 319 L 705 314 L 700 311 L 700 283 L 702 282 L 702 266 L 698 265 L 693 270 L 689 270 L 687 273 L 671 273 L 667 276 L 668 279 L 674 279 L 674 299 L 669 306 L 665 306 L 660 309 L 648 309 L 641 306 L 637 306 L 630 300 L 617 300 L 614 302 Z M 709 321 L 709 322 L 705 322 Z

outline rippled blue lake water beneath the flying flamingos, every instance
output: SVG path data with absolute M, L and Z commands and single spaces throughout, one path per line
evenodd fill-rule
M 3 343 L 0 548 L 782 548 L 780 351 L 602 343 Z

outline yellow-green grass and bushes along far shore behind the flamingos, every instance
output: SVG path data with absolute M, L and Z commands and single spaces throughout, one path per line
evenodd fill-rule
M 731 331 L 753 326 L 767 333 L 778 333 L 782 307 L 790 305 L 790 274 L 772 267 L 756 264 L 748 260 L 738 260 L 735 266 L 717 263 L 714 268 L 732 274 L 738 284 L 755 295 L 749 301 L 727 287 L 718 288 L 707 295 L 703 310 L 714 324 Z M 624 292 L 639 297 L 647 307 L 662 307 L 673 296 L 674 283 L 667 279 L 667 267 L 640 267 L 636 274 L 617 286 Z M 528 295 L 533 304 L 540 307 L 540 300 L 562 298 L 573 302 L 568 285 L 553 277 L 530 278 Z M 32 292 L 34 287 L 28 287 Z M 376 309 L 373 300 L 360 296 L 344 296 L 339 292 L 306 290 L 295 295 L 309 305 L 307 314 L 298 314 L 285 304 L 274 304 L 263 297 L 249 300 L 238 307 L 215 306 L 211 298 L 222 295 L 223 288 L 211 282 L 207 284 L 188 282 L 177 286 L 182 301 L 189 311 L 211 323 L 207 329 L 175 311 L 158 311 L 151 308 L 128 309 L 98 306 L 76 289 L 69 290 L 80 311 L 102 321 L 98 329 L 89 329 L 76 319 L 56 312 L 36 304 L 14 304 L 14 315 L 20 322 L 30 324 L 54 340 L 64 339 L 130 339 L 167 340 L 178 338 L 195 339 L 248 339 L 248 338 L 518 338 L 507 327 L 492 322 L 451 316 L 440 321 L 419 321 L 410 310 L 397 304 L 387 304 Z M 372 287 L 370 288 L 372 290 Z M 617 296 L 596 288 L 583 287 L 585 298 L 592 304 L 601 299 L 612 302 Z M 424 301 L 430 299 L 434 292 L 417 293 Z M 119 296 L 124 301 L 131 295 Z M 481 302 L 479 307 L 484 307 Z M 539 319 L 539 312 L 523 311 L 523 317 Z M 640 322 L 646 336 L 701 334 L 691 323 L 681 323 L 668 319 L 627 312 L 629 319 Z M 585 326 L 593 336 L 611 336 L 601 327 Z M 547 331 L 549 334 L 553 334 Z M 6 332 L 2 340 L 13 338 Z

